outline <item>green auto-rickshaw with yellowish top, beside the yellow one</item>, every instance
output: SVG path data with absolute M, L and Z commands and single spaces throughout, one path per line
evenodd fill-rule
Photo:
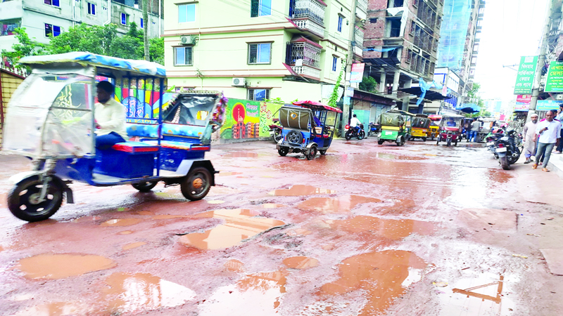
M 415 117 L 414 114 L 401 110 L 381 113 L 379 116 L 381 135 L 377 143 L 383 145 L 384 142 L 392 142 L 398 146 L 405 145 L 405 141 L 410 138 L 413 117 Z

